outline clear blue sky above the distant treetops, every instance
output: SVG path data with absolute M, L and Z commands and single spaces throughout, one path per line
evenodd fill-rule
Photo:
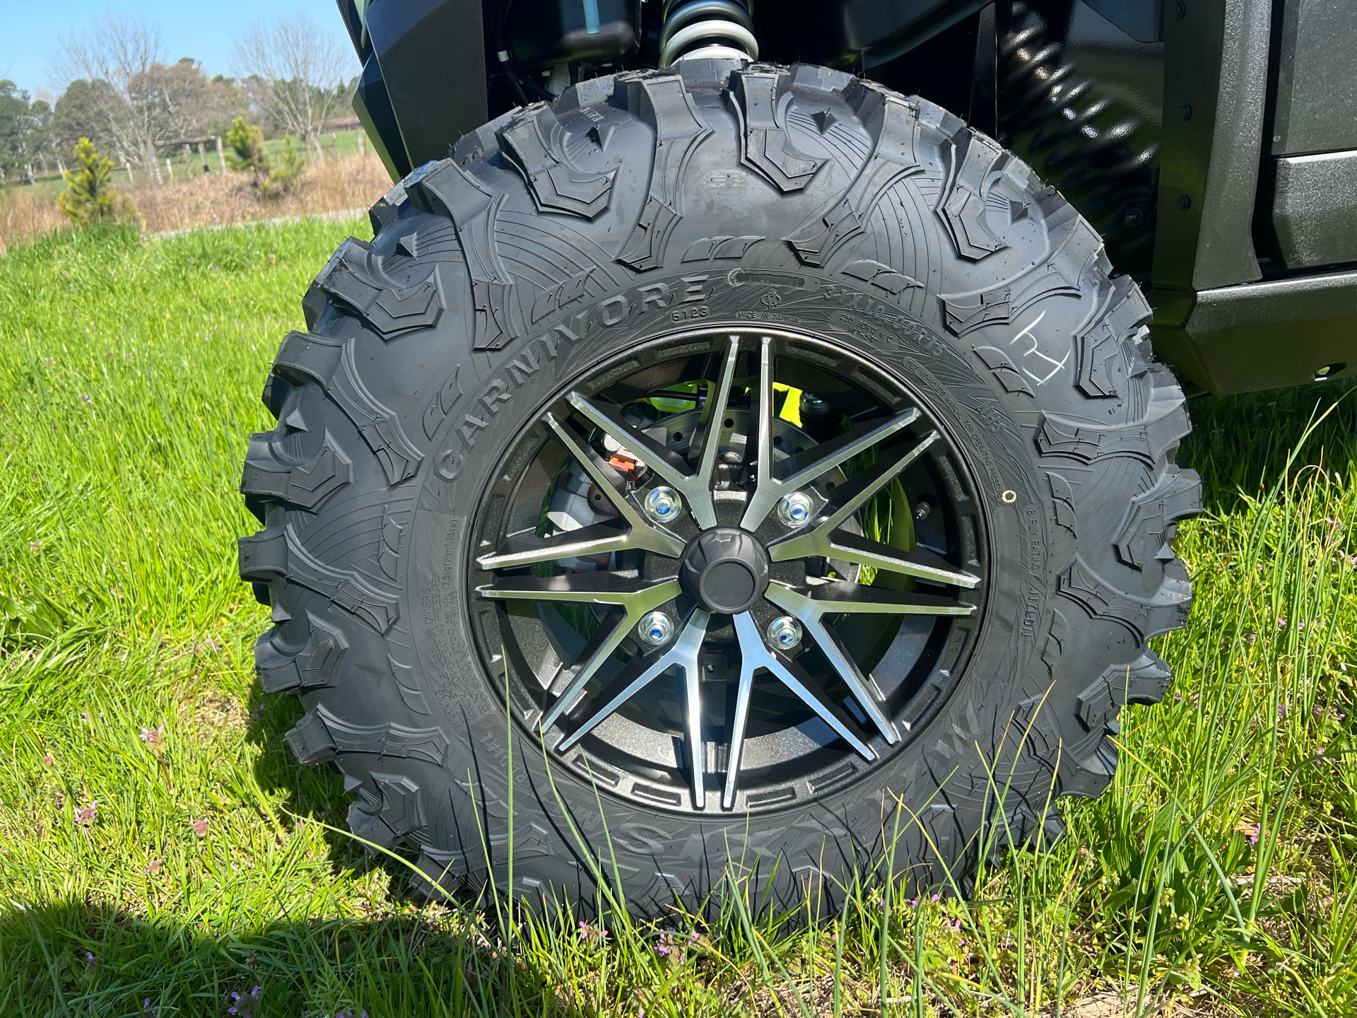
M 61 49 L 61 37 L 106 15 L 159 24 L 166 60 L 194 57 L 209 75 L 231 75 L 231 50 L 242 29 L 299 11 L 353 52 L 334 0 L 0 0 L 0 77 L 30 92 L 54 91 L 49 64 Z M 358 72 L 357 57 L 351 71 Z

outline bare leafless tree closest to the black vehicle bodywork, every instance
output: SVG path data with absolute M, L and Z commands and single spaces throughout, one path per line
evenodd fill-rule
M 262 111 L 285 134 L 320 152 L 320 132 L 345 102 L 353 52 L 338 46 L 309 18 L 251 26 L 236 41 L 236 64 Z

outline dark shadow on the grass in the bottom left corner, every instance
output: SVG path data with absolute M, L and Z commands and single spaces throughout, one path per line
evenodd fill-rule
M 213 935 L 83 901 L 5 909 L 0 1010 L 159 1018 L 584 1013 L 560 992 L 556 973 L 510 960 L 463 919 L 448 911 L 280 919 Z

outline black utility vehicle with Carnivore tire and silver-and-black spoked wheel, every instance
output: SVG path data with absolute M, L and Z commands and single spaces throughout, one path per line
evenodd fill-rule
M 973 889 L 1357 371 L 1346 0 L 341 0 L 399 181 L 265 385 L 259 680 L 425 889 Z

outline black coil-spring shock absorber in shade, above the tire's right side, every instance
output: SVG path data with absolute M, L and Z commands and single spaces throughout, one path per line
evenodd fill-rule
M 1020 0 L 999 43 L 1000 140 L 1060 187 L 1107 243 L 1122 271 L 1145 271 L 1153 248 L 1159 145 L 1080 77 L 1046 22 Z

